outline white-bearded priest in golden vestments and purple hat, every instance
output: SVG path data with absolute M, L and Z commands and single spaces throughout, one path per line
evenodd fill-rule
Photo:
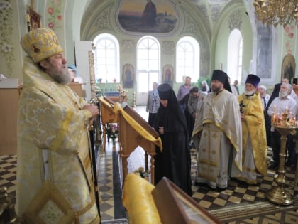
M 257 183 L 257 174 L 267 174 L 267 141 L 260 92 L 260 78 L 250 74 L 245 80 L 245 92 L 239 95 L 242 124 L 242 172 L 239 180 Z

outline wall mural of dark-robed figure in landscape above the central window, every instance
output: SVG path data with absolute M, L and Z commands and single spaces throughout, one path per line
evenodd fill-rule
M 177 25 L 177 13 L 168 0 L 123 0 L 118 22 L 126 31 L 170 33 Z

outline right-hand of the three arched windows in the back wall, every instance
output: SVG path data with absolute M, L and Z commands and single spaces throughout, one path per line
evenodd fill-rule
M 190 76 L 192 82 L 199 79 L 199 43 L 191 36 L 182 37 L 176 48 L 176 82 Z

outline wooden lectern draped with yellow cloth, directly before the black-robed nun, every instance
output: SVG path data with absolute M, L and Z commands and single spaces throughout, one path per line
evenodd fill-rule
M 116 103 L 117 107 L 120 107 Z M 123 109 L 117 110 L 119 122 L 119 143 L 122 159 L 123 182 L 128 174 L 127 158 L 138 147 L 145 150 L 145 170 L 148 171 L 148 154 L 150 159 L 151 183 L 154 184 L 154 156 L 155 147 L 162 148 L 162 142 L 158 132 L 140 117 L 140 115 L 130 106 L 126 105 Z

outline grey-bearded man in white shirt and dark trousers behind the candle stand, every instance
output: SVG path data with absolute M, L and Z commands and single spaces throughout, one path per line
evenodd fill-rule
M 271 102 L 268 107 L 267 114 L 270 116 L 272 122 L 272 115 L 281 116 L 283 112 L 292 114 L 289 116 L 297 116 L 297 102 L 290 96 L 292 91 L 292 86 L 290 84 L 282 83 L 280 86 L 280 93 L 278 97 Z M 272 124 L 272 123 L 271 123 Z M 280 165 L 280 132 L 278 132 L 273 124 L 271 125 L 271 146 L 273 153 L 273 163 L 270 164 L 270 169 L 277 169 Z M 287 151 L 287 166 L 290 166 L 294 169 L 296 165 L 296 151 L 295 151 L 295 142 L 292 134 L 287 135 L 286 143 Z

